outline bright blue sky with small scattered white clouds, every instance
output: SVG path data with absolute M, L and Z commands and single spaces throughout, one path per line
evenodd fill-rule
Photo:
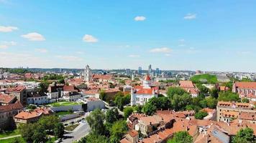
M 0 66 L 256 71 L 256 1 L 0 0 Z

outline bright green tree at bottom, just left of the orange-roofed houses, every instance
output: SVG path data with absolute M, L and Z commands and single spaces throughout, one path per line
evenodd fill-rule
M 122 120 L 114 122 L 113 126 L 110 129 L 110 141 L 113 143 L 118 143 L 127 132 L 127 130 L 127 122 Z

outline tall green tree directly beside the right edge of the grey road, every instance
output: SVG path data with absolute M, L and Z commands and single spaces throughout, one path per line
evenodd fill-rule
M 86 121 L 91 127 L 93 134 L 103 135 L 105 133 L 104 119 L 105 114 L 104 112 L 101 112 L 100 109 L 95 109 L 88 117 L 86 117 Z

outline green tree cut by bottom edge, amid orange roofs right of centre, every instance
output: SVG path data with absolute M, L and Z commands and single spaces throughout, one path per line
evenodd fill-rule
M 173 135 L 173 139 L 169 139 L 168 143 L 192 143 L 193 138 L 188 134 L 188 132 L 180 131 Z

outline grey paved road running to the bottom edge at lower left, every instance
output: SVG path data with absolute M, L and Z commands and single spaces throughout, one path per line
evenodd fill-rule
M 73 132 L 68 134 L 64 134 L 64 136 L 68 137 L 67 139 L 63 139 L 63 143 L 72 143 L 76 140 L 81 139 L 86 136 L 90 132 L 90 127 L 87 122 L 81 123 Z

